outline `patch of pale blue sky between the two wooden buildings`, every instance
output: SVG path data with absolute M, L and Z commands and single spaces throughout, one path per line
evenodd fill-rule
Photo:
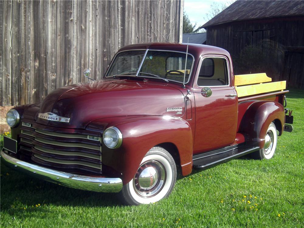
M 188 14 L 191 23 L 197 26 L 205 24 L 208 20 L 204 20 L 206 13 L 210 10 L 210 5 L 216 2 L 218 5 L 227 3 L 228 0 L 184 0 L 184 11 Z

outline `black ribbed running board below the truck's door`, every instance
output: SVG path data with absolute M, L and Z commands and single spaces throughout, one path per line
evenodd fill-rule
M 224 147 L 219 150 L 213 150 L 202 154 L 197 154 L 192 157 L 193 168 L 196 170 L 204 170 L 212 166 L 227 162 L 233 158 L 241 157 L 250 154 L 260 147 L 249 147 L 244 145 L 234 145 Z

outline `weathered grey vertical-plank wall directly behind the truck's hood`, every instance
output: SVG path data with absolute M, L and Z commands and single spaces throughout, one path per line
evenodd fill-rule
M 1 0 L 1 106 L 41 102 L 85 68 L 101 79 L 125 45 L 179 42 L 182 12 L 183 0 Z

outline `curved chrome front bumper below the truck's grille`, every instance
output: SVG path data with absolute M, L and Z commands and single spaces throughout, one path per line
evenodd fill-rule
M 120 178 L 90 177 L 56 171 L 18 160 L 4 153 L 4 150 L 1 151 L 1 159 L 5 165 L 46 181 L 94 192 L 119 192 L 123 187 Z

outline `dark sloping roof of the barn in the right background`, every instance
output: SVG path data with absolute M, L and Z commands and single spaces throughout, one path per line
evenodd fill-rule
M 200 28 L 238 20 L 299 15 L 304 16 L 304 1 L 238 0 L 206 22 Z

